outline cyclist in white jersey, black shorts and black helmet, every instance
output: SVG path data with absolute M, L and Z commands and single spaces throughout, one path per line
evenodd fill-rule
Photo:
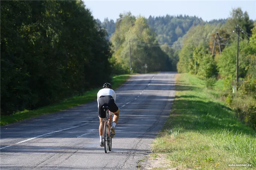
M 116 93 L 112 90 L 112 85 L 110 83 L 103 84 L 103 88 L 99 90 L 97 94 L 98 101 L 98 113 L 99 113 L 99 146 L 104 146 L 103 141 L 103 119 L 106 118 L 106 112 L 104 112 L 103 106 L 108 106 L 110 110 L 110 122 L 112 121 L 112 113 L 114 113 L 113 123 L 111 126 L 110 136 L 114 137 L 115 135 L 115 126 L 119 119 L 119 109 L 115 103 Z

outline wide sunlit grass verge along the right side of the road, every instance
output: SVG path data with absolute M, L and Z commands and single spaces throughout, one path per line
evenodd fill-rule
M 155 155 L 166 154 L 178 169 L 256 169 L 256 133 L 220 100 L 222 84 L 210 90 L 196 76 L 177 75 L 172 111 L 152 145 Z

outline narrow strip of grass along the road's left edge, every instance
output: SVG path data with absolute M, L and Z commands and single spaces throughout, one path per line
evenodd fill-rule
M 127 79 L 129 75 L 118 75 L 114 76 L 112 79 L 112 87 L 116 89 L 120 87 Z M 63 100 L 60 103 L 55 103 L 50 106 L 41 107 L 36 110 L 24 110 L 22 112 L 16 112 L 9 116 L 0 116 L 0 125 L 6 125 L 12 122 L 24 120 L 27 118 L 37 117 L 44 114 L 54 113 L 60 110 L 65 110 L 74 106 L 81 105 L 83 103 L 91 102 L 97 99 L 97 92 L 101 88 L 96 88 L 84 93 L 82 96 L 75 96 Z

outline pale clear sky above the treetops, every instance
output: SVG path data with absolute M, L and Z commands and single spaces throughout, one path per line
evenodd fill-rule
M 132 15 L 151 16 L 189 15 L 205 21 L 228 18 L 232 8 L 241 7 L 250 19 L 256 20 L 256 0 L 83 0 L 95 19 L 116 19 L 131 11 Z

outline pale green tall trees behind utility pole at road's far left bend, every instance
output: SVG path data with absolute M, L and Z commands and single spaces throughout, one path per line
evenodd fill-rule
M 132 70 L 135 73 L 171 70 L 171 59 L 163 52 L 156 40 L 156 34 L 143 17 L 135 18 L 131 13 L 122 14 L 111 37 L 114 57 L 122 68 L 129 71 L 131 44 Z

